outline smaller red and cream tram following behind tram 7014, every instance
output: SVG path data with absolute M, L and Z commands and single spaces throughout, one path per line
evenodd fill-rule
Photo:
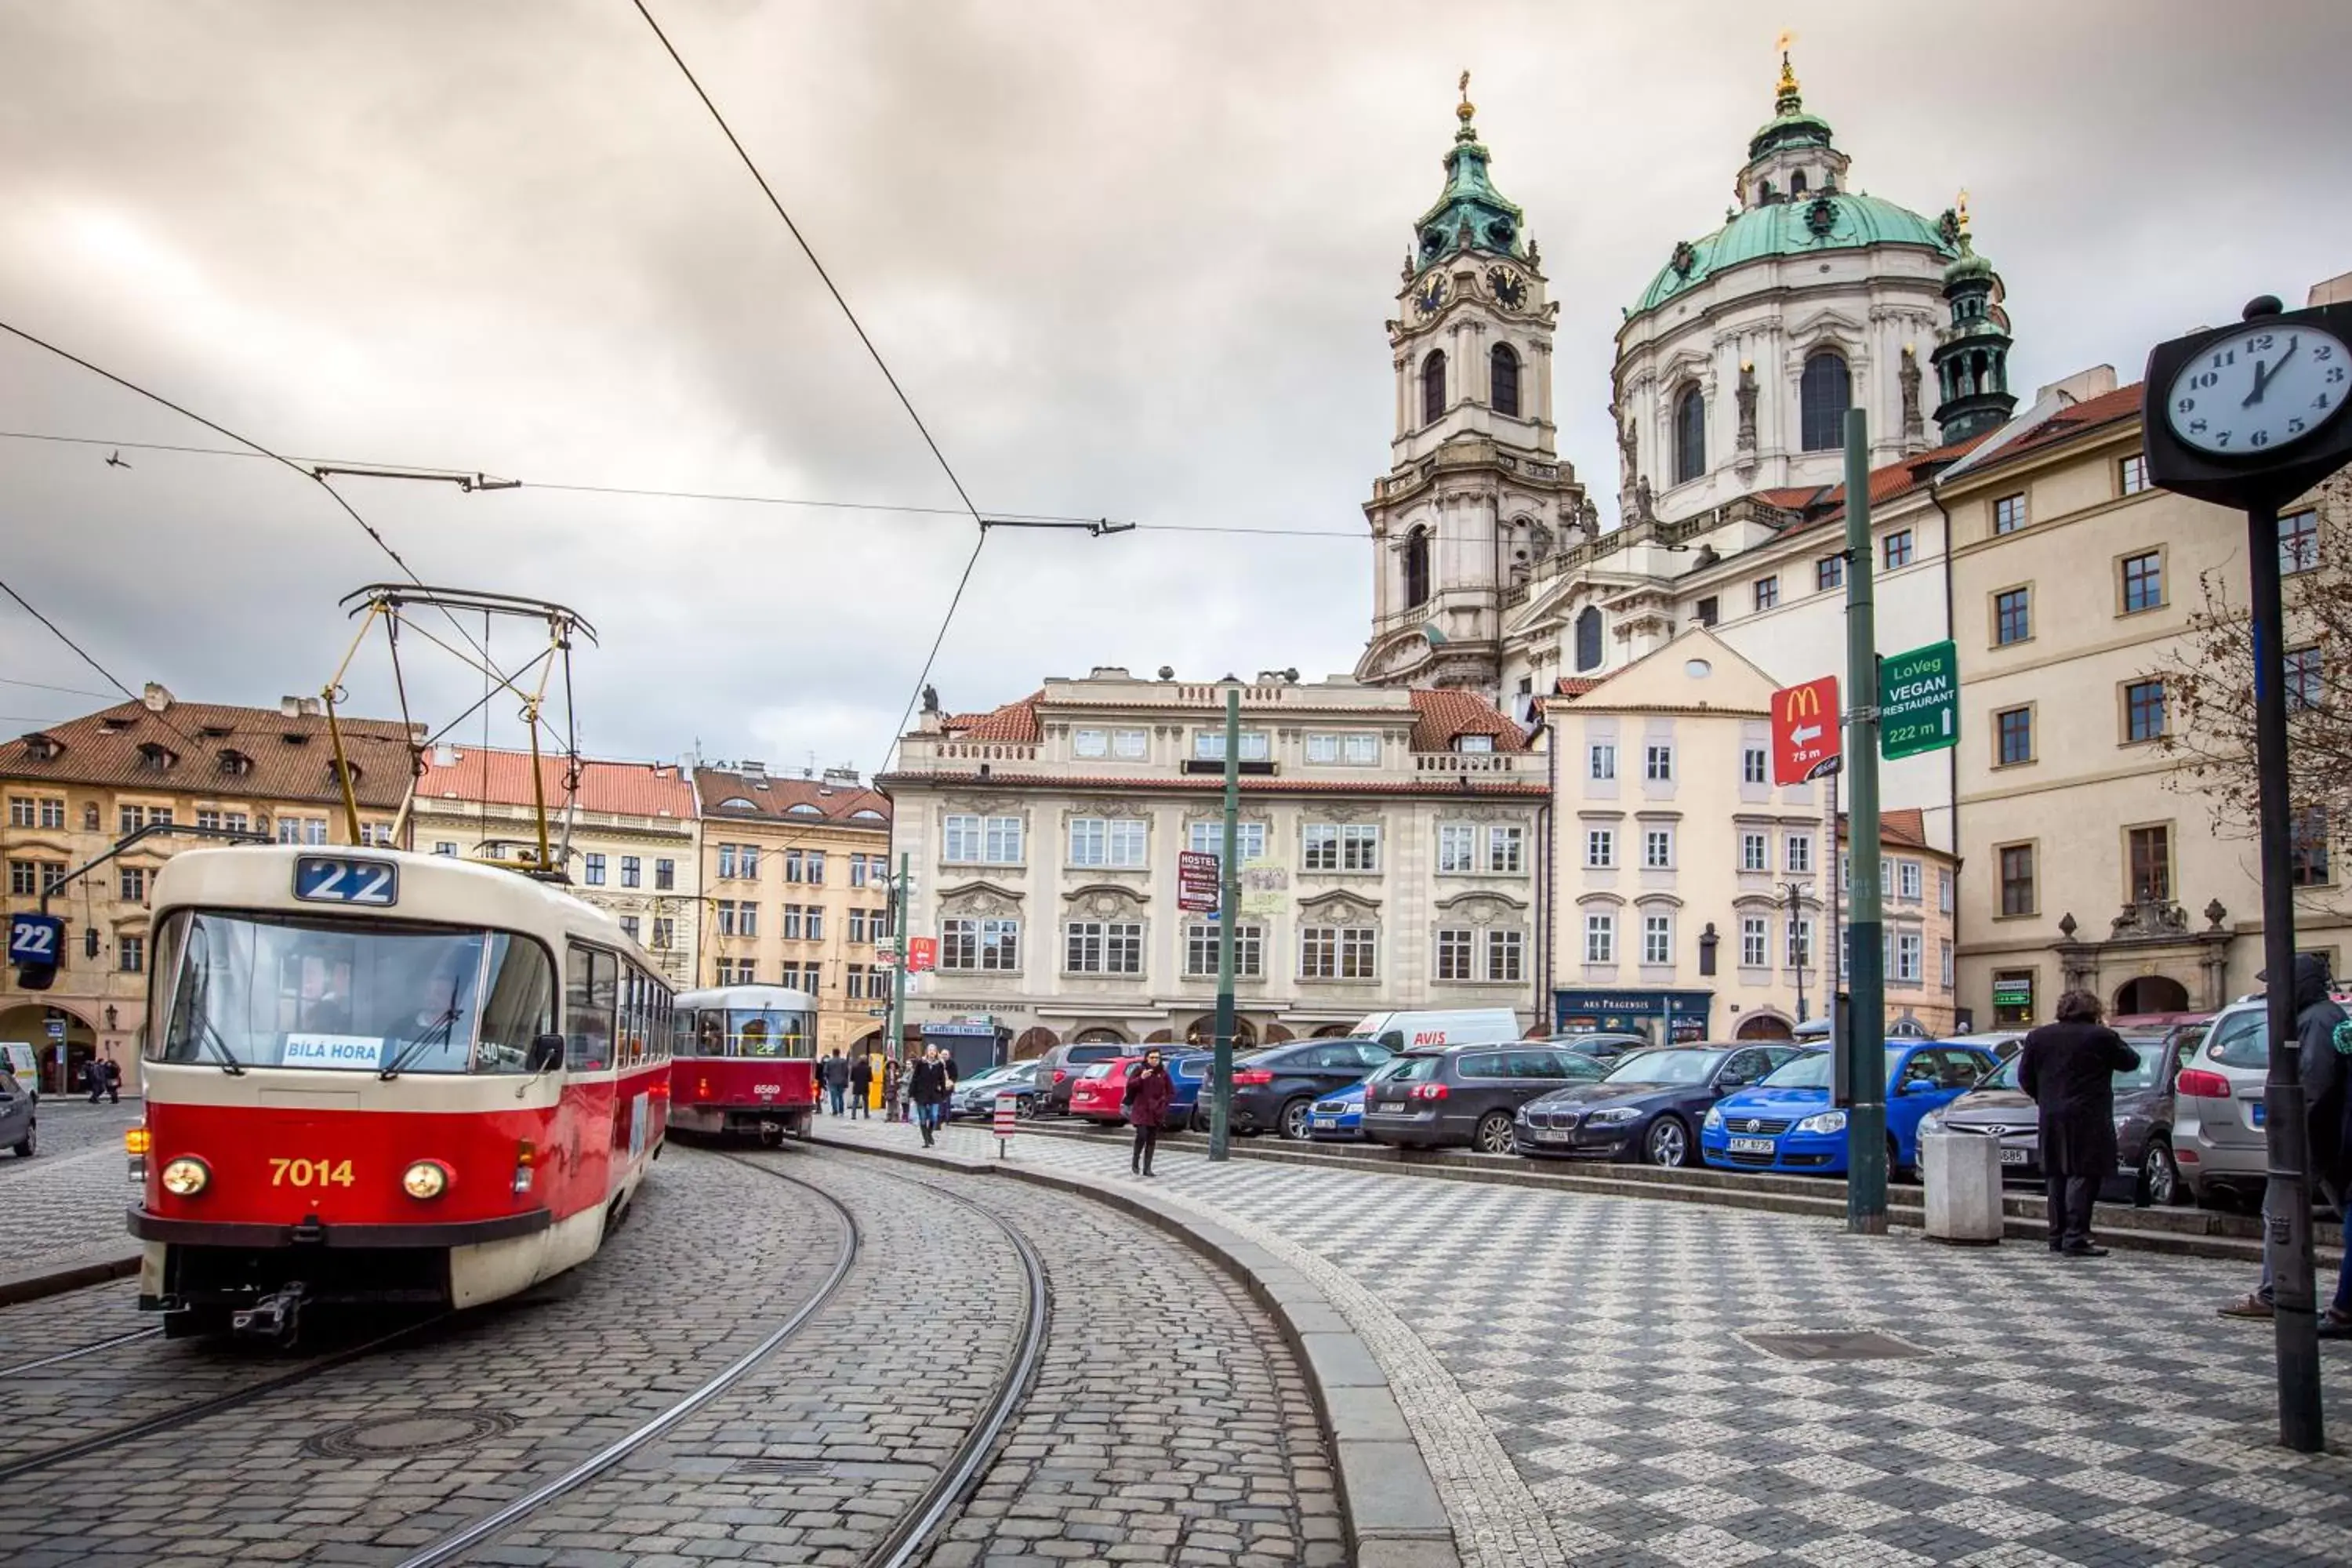
M 677 997 L 670 1126 L 809 1135 L 816 1114 L 816 997 L 783 985 L 717 985 Z

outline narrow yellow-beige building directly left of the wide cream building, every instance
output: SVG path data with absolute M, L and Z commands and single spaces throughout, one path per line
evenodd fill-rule
M 694 769 L 701 802 L 701 983 L 816 997 L 816 1048 L 880 1044 L 891 969 L 891 804 L 854 771 L 771 778 Z

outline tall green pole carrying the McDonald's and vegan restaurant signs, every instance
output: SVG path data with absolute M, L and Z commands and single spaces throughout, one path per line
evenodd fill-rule
M 1870 414 L 1846 409 L 1846 1229 L 1886 1234 L 1886 926 L 1879 886 L 1879 630 L 1870 585 Z

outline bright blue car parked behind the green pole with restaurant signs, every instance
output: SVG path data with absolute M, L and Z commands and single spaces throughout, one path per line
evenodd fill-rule
M 1976 1088 L 1992 1051 L 1933 1039 L 1886 1046 L 1886 1159 L 1919 1164 L 1919 1117 Z M 1724 1095 L 1698 1128 L 1698 1152 L 1722 1171 L 1846 1171 L 1846 1112 L 1830 1105 L 1830 1053 L 1811 1051 L 1755 1088 Z

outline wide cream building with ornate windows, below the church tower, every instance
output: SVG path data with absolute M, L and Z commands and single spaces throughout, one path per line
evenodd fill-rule
M 877 780 L 910 856 L 910 1025 L 988 1016 L 1068 1039 L 1197 1041 L 1216 924 L 1178 853 L 1223 849 L 1221 682 L 1094 670 L 993 712 L 924 712 Z M 1385 1009 L 1545 1004 L 1545 757 L 1468 691 L 1268 672 L 1242 689 L 1240 1039 Z

